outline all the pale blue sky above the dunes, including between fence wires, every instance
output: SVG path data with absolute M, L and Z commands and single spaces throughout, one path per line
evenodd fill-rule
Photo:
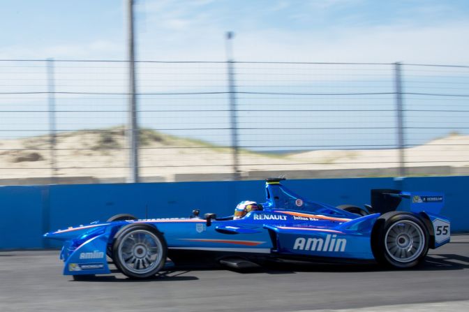
M 1 59 L 126 59 L 126 10 L 121 0 L 0 0 Z M 141 61 L 224 61 L 225 31 L 234 31 L 237 61 L 379 62 L 469 65 L 469 1 L 435 0 L 137 0 L 137 59 Z M 45 62 L 2 62 L 0 92 L 47 91 Z M 15 67 L 17 66 L 17 67 Z M 211 67 L 210 67 L 211 66 Z M 226 91 L 225 64 L 142 64 L 137 68 L 141 93 Z M 394 91 L 393 66 L 242 66 L 236 68 L 241 91 L 283 92 L 385 92 Z M 463 94 L 469 85 L 468 69 L 408 67 L 405 91 Z M 372 75 L 369 75 L 372 73 Z M 305 75 L 306 74 L 306 75 Z M 355 76 L 354 76 L 355 75 Z M 374 76 L 373 76 L 374 75 Z M 56 64 L 56 91 L 126 92 L 126 65 L 119 63 Z M 438 84 L 436 83 L 438 82 Z M 64 131 L 103 128 L 126 122 L 127 98 L 121 96 L 70 96 L 59 94 L 59 110 L 82 110 L 57 114 Z M 201 104 L 202 103 L 202 104 Z M 415 110 L 465 108 L 466 98 L 422 98 L 407 96 L 405 105 Z M 142 126 L 174 135 L 193 136 L 229 144 L 228 96 L 161 98 L 141 96 Z M 3 138 L 19 134 L 47 133 L 47 94 L 0 97 Z M 71 108 L 70 108 L 71 107 Z M 204 112 L 194 114 L 193 107 Z M 297 145 L 336 146 L 347 142 L 392 145 L 396 135 L 394 95 L 356 98 L 301 98 L 284 96 L 239 96 L 239 125 L 256 126 L 259 121 L 283 124 L 296 130 L 282 133 L 283 141 L 298 138 Z M 290 114 L 248 112 L 271 107 L 344 112 Z M 357 112 L 349 108 L 382 112 Z M 150 113 L 173 109 L 177 112 Z M 24 113 L 18 110 L 33 110 Z M 43 113 L 36 111 L 43 110 Z M 113 114 L 95 110 L 120 110 Z M 182 110 L 183 112 L 180 112 Z M 184 110 L 187 110 L 184 112 Z M 208 112 L 208 110 L 225 110 Z M 413 115 L 412 115 L 413 114 Z M 466 125 L 467 112 L 455 115 L 435 112 L 409 113 L 411 126 L 442 127 Z M 267 117 L 266 117 L 267 116 Z M 424 118 L 422 118 L 424 116 Z M 190 127 L 219 127 L 224 131 L 187 131 Z M 323 132 L 311 126 L 337 125 L 376 127 L 373 131 Z M 379 130 L 380 126 L 387 129 Z M 174 130 L 173 128 L 182 128 Z M 447 135 L 452 128 L 422 130 L 409 135 L 409 144 L 422 144 Z M 163 130 L 162 130 L 163 129 Z M 164 130 L 169 129 L 169 130 Z M 29 132 L 18 132 L 28 130 Z M 36 131 L 37 130 L 37 131 Z M 262 129 L 264 131 L 265 129 Z M 458 129 L 456 129 L 458 130 Z M 39 131 L 39 132 L 38 132 Z M 240 131 L 246 144 L 260 144 L 273 131 Z M 409 132 L 410 132 L 409 131 Z M 466 128 L 459 130 L 467 133 Z M 275 133 L 274 133 L 275 134 Z M 275 136 L 277 141 L 280 137 Z M 241 140 L 243 139 L 241 138 Z M 249 141 L 251 140 L 251 141 Z M 273 140 L 273 139 L 272 139 Z M 340 140 L 340 142 L 339 142 Z M 336 143 L 334 143 L 336 142 Z M 267 142 L 269 143 L 269 142 Z

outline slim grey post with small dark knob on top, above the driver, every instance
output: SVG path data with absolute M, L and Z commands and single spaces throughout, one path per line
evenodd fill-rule
M 228 68 L 228 93 L 230 94 L 230 123 L 231 123 L 231 147 L 233 151 L 233 179 L 237 180 L 241 177 L 239 171 L 239 142 L 238 142 L 238 125 L 237 125 L 237 108 L 236 108 L 236 86 L 234 82 L 234 61 L 233 61 L 233 47 L 232 38 L 234 34 L 232 31 L 226 33 L 226 64 Z

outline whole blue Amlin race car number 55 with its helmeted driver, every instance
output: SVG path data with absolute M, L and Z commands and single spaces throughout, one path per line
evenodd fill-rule
M 429 248 L 449 242 L 449 220 L 438 215 L 442 193 L 372 190 L 371 205 L 332 207 L 293 193 L 281 180 L 267 179 L 266 202 L 241 202 L 234 216 L 200 217 L 194 210 L 190 218 L 137 220 L 121 214 L 44 236 L 65 241 L 66 275 L 109 274 L 112 261 L 130 278 L 154 276 L 170 261 L 232 268 L 277 260 L 371 261 L 409 268 Z

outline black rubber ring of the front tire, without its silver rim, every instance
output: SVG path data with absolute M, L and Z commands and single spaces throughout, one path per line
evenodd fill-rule
M 133 232 L 136 230 L 146 230 L 154 234 L 159 241 L 161 242 L 161 246 L 163 247 L 161 250 L 162 257 L 160 263 L 156 265 L 154 269 L 152 269 L 150 272 L 147 272 L 145 274 L 135 274 L 134 272 L 129 271 L 126 269 L 125 265 L 122 265 L 120 260 L 119 260 L 119 245 L 121 244 L 121 241 L 126 235 L 128 235 L 129 232 Z M 112 243 L 112 255 L 114 259 L 114 265 L 116 265 L 117 269 L 119 269 L 122 274 L 130 277 L 130 278 L 149 278 L 151 276 L 154 276 L 158 271 L 161 270 L 163 265 L 165 265 L 166 257 L 168 255 L 168 245 L 166 244 L 165 238 L 163 237 L 163 234 L 159 232 L 154 226 L 149 225 L 149 224 L 129 224 L 121 228 L 116 235 L 114 236 L 114 242 Z

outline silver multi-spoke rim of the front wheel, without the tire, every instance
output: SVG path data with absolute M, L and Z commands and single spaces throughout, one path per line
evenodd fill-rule
M 121 265 L 128 271 L 146 274 L 160 264 L 163 258 L 163 245 L 154 233 L 135 230 L 122 238 L 118 253 Z

